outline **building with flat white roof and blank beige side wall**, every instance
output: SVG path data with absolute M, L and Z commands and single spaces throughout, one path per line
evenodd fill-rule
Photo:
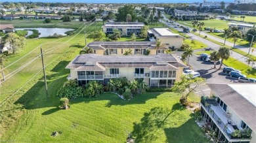
M 153 28 L 148 32 L 148 36 L 155 40 L 159 40 L 161 44 L 166 44 L 168 48 L 179 49 L 183 44 L 184 37 L 179 34 L 172 33 L 168 28 Z

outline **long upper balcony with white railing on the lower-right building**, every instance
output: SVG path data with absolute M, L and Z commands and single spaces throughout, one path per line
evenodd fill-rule
M 230 119 L 228 116 L 226 116 L 226 112 L 221 109 L 221 106 L 215 104 L 203 104 L 201 103 L 203 108 L 205 108 L 205 112 L 213 119 L 213 121 L 216 123 L 216 125 L 221 129 L 221 131 L 230 138 L 230 140 L 241 140 L 243 141 L 249 141 L 250 136 L 240 136 L 240 137 L 234 137 L 232 136 L 232 132 L 235 130 L 234 127 L 236 127 L 234 121 Z M 213 108 L 214 107 L 214 108 Z M 217 115 L 219 114 L 219 116 Z M 234 124 L 233 124 L 234 123 Z M 236 127 L 238 129 L 238 127 Z M 242 130 L 241 130 L 242 131 Z

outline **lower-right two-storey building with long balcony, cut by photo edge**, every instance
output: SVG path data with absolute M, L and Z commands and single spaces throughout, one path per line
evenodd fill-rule
M 203 121 L 223 142 L 256 142 L 256 84 L 207 84 L 215 99 L 201 102 Z M 245 129 L 251 134 L 245 136 Z M 244 135 L 232 136 L 235 130 Z

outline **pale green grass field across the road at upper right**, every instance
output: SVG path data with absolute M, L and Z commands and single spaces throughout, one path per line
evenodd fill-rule
M 204 22 L 205 26 L 204 27 L 211 27 L 211 28 L 216 28 L 216 29 L 225 29 L 228 28 L 228 23 L 227 21 L 224 20 L 199 20 L 199 22 Z M 192 20 L 191 21 L 177 21 L 177 23 L 182 24 L 182 25 L 187 25 L 192 27 Z

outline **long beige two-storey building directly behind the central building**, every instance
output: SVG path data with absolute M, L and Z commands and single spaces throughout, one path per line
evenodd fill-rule
M 150 50 L 150 55 L 165 53 L 169 50 L 168 46 L 163 45 L 156 50 L 156 42 L 150 41 L 129 41 L 129 42 L 91 42 L 87 47 L 92 48 L 97 55 L 116 55 L 123 56 L 126 51 L 131 50 L 133 55 L 144 55 L 146 50 Z

